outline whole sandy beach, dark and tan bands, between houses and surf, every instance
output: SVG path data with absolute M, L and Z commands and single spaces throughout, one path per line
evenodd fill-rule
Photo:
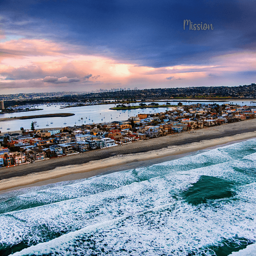
M 204 128 L 94 150 L 83 154 L 0 169 L 0 191 L 85 179 L 116 171 L 170 161 L 198 150 L 256 137 L 256 120 Z

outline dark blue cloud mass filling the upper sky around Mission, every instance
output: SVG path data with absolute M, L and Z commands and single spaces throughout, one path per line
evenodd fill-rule
M 80 45 L 81 53 L 153 67 L 205 64 L 212 56 L 256 48 L 250 0 L 12 0 L 2 1 L 0 14 L 9 34 L 68 42 Z M 214 29 L 184 30 L 184 19 Z

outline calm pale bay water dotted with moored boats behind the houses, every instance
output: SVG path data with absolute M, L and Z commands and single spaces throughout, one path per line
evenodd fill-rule
M 167 101 L 161 101 L 157 102 L 159 105 L 160 104 L 166 104 Z M 171 102 L 171 101 L 170 101 Z M 177 103 L 180 101 L 176 102 L 171 102 L 173 105 L 177 105 Z M 182 101 L 181 101 L 182 102 Z M 140 102 L 133 103 L 134 106 L 139 106 Z M 151 102 L 146 102 L 147 104 Z M 213 101 L 190 101 L 186 102 L 186 104 L 196 104 L 196 103 L 202 103 L 202 104 L 210 104 L 213 103 Z M 225 103 L 234 103 L 238 105 L 246 105 L 250 106 L 252 104 L 250 101 L 223 101 L 223 102 L 216 102 L 217 104 L 225 104 Z M 184 102 L 185 104 L 185 102 Z M 48 124 L 49 122 L 48 118 L 40 118 L 40 124 L 39 126 L 36 125 L 37 129 L 44 129 L 44 128 L 51 128 L 51 127 L 65 127 L 65 126 L 74 126 L 76 125 L 77 120 L 85 120 L 83 123 L 84 124 L 103 124 L 103 123 L 108 123 L 113 121 L 113 117 L 115 121 L 125 121 L 128 120 L 129 117 L 132 116 L 137 116 L 138 112 L 140 112 L 140 109 L 127 109 L 127 110 L 111 110 L 109 108 L 116 107 L 117 104 L 104 104 L 104 105 L 91 105 L 91 106 L 82 106 L 82 107 L 70 107 L 70 108 L 64 108 L 62 109 L 61 106 L 62 104 L 56 104 L 56 105 L 38 105 L 36 107 L 43 109 L 43 110 L 34 110 L 33 112 L 17 112 L 17 113 L 3 113 L 0 114 L 0 118 L 10 118 L 10 117 L 21 117 L 25 115 L 29 115 L 33 113 L 33 116 L 36 115 L 46 115 L 46 114 L 54 114 L 54 113 L 74 113 L 74 116 L 70 117 L 65 117 L 63 121 L 63 117 L 54 117 L 51 118 L 52 122 L 51 124 Z M 154 107 L 154 112 L 153 113 L 159 113 L 159 112 L 164 112 L 165 110 L 170 110 L 172 108 L 172 105 L 166 106 L 166 108 L 157 108 Z M 144 108 L 141 110 L 144 114 L 150 114 L 152 113 L 152 108 Z M 102 115 L 104 116 L 102 120 Z M 114 115 L 114 116 L 113 116 Z M 32 116 L 32 115 L 31 115 Z M 92 118 L 93 117 L 93 118 Z M 82 119 L 83 118 L 83 119 Z M 88 119 L 88 121 L 86 121 Z M 20 130 L 20 123 L 21 120 L 11 120 L 11 121 L 4 121 L 1 122 L 1 132 L 3 133 L 4 131 L 8 130 Z M 77 125 L 81 125 L 80 123 Z M 30 129 L 31 128 L 31 119 L 25 119 L 22 120 L 22 127 L 24 129 Z M 9 128 L 9 129 L 8 129 Z

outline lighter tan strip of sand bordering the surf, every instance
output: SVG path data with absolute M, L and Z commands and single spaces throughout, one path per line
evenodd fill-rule
M 113 172 L 150 166 L 196 154 L 199 150 L 210 150 L 253 138 L 256 138 L 256 131 L 214 139 L 204 139 L 189 144 L 173 145 L 168 146 L 167 148 L 164 147 L 135 154 L 119 154 L 82 164 L 58 166 L 46 171 L 42 170 L 36 173 L 32 172 L 27 175 L 2 179 L 0 180 L 0 193 L 62 181 L 88 179 Z M 72 161 L 70 161 L 70 163 L 72 163 Z

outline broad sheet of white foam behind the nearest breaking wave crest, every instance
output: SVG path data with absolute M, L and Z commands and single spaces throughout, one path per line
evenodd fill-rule
M 203 252 L 210 255 L 214 246 L 221 245 L 221 237 L 255 239 L 251 230 L 255 224 L 245 218 L 254 212 L 255 208 L 248 203 L 242 208 L 236 202 L 219 207 L 195 207 L 178 201 L 102 221 L 13 255 L 89 255 L 91 243 L 95 248 L 119 255 L 129 255 L 130 250 L 132 255 L 199 255 Z

